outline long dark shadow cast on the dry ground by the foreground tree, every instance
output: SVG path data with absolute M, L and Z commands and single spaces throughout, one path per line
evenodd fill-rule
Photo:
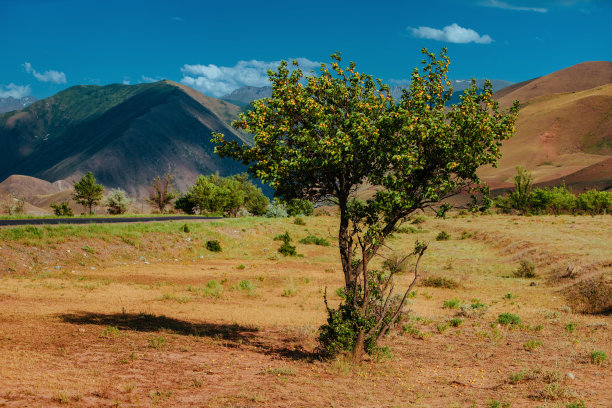
M 281 340 L 282 346 L 269 344 L 256 336 L 256 327 L 239 324 L 194 323 L 167 316 L 156 316 L 147 313 L 66 313 L 58 315 L 59 319 L 72 324 L 95 324 L 115 326 L 120 330 L 139 332 L 168 331 L 183 336 L 212 337 L 259 348 L 265 354 L 273 354 L 292 360 L 317 359 L 317 354 L 304 350 L 301 346 L 290 346 L 291 339 Z

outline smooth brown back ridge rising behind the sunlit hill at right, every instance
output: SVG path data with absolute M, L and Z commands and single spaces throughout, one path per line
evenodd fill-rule
M 525 104 L 541 96 L 585 91 L 609 83 L 612 83 L 612 62 L 589 61 L 511 85 L 495 93 L 495 98 L 502 106 L 510 106 L 514 100 Z

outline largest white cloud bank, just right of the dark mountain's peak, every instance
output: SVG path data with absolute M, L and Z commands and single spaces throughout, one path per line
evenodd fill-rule
M 306 58 L 296 58 L 302 70 L 308 72 L 321 65 L 320 62 Z M 215 97 L 227 95 L 242 86 L 266 86 L 268 70 L 276 70 L 280 61 L 238 61 L 233 67 L 208 65 L 188 65 L 181 68 L 181 82 L 207 95 Z M 291 67 L 291 64 L 290 64 Z

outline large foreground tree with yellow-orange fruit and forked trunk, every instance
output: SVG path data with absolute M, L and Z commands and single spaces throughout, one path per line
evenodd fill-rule
M 475 81 L 458 105 L 446 108 L 452 94 L 446 50 L 439 57 L 423 53 L 422 71 L 413 71 L 397 103 L 387 85 L 359 73 L 354 63 L 342 69 L 338 53 L 331 70 L 322 64 L 318 76 L 306 78 L 296 61 L 292 71 L 282 62 L 268 72 L 272 97 L 255 101 L 233 123 L 254 135 L 254 145 L 213 135 L 218 154 L 249 165 L 276 197 L 338 206 L 345 299 L 337 310 L 327 308 L 319 342 L 330 354 L 351 351 L 355 361 L 398 322 L 418 276 L 415 267 L 410 287 L 395 296 L 397 268 L 370 271 L 370 261 L 415 211 L 464 191 L 486 196 L 476 170 L 496 164 L 518 113 L 518 102 L 500 112 L 491 84 L 478 90 Z M 366 201 L 356 196 L 363 185 L 375 191 Z M 440 214 L 448 208 L 440 207 Z M 426 248 L 416 243 L 417 266 Z

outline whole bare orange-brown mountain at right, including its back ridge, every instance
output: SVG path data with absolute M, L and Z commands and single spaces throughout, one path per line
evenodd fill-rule
M 493 187 L 511 185 L 521 165 L 541 185 L 612 188 L 612 62 L 578 64 L 494 97 L 502 106 L 518 99 L 521 110 L 499 167 L 481 171 Z

